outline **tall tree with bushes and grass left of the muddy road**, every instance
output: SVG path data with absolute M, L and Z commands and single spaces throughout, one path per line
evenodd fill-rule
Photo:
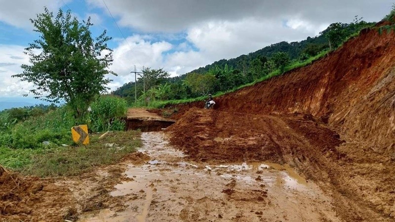
M 110 82 L 106 75 L 115 74 L 108 70 L 111 37 L 105 31 L 92 37 L 90 19 L 80 23 L 61 9 L 54 16 L 45 8 L 31 22 L 40 38 L 25 49 L 30 65 L 13 77 L 33 83 L 31 93 L 54 104 L 0 111 L 0 165 L 41 177 L 77 175 L 135 151 L 140 132 L 123 131 L 126 101 L 101 95 Z M 71 137 L 79 124 L 88 125 L 86 146 Z

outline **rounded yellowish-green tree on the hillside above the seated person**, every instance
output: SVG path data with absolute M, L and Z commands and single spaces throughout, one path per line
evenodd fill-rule
M 213 92 L 216 83 L 216 78 L 212 74 L 188 74 L 183 80 L 184 85 L 188 86 L 192 93 L 205 96 Z

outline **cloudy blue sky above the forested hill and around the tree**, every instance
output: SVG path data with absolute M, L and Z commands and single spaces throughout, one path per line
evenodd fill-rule
M 91 17 L 94 35 L 108 30 L 114 64 L 109 85 L 134 80 L 133 65 L 185 74 L 220 59 L 247 54 L 279 41 L 314 37 L 333 22 L 355 15 L 379 21 L 394 0 L 0 0 L 0 99 L 28 92 L 31 84 L 11 78 L 38 37 L 29 18 L 47 6 Z M 106 4 L 114 16 L 110 15 Z

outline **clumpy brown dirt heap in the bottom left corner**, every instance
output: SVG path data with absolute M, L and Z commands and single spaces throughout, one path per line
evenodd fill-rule
M 0 221 L 74 219 L 75 202 L 67 188 L 22 177 L 0 166 Z

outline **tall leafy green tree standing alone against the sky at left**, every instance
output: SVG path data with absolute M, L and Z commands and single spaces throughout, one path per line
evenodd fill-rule
M 111 80 L 105 75 L 116 75 L 107 70 L 113 61 L 107 46 L 111 37 L 104 31 L 93 38 L 90 18 L 79 23 L 71 11 L 59 9 L 56 16 L 46 7 L 44 11 L 30 20 L 40 34 L 25 49 L 31 65 L 22 65 L 23 73 L 12 77 L 34 83 L 30 92 L 35 98 L 64 101 L 76 118 L 82 117 L 94 98 L 108 89 L 106 84 Z

